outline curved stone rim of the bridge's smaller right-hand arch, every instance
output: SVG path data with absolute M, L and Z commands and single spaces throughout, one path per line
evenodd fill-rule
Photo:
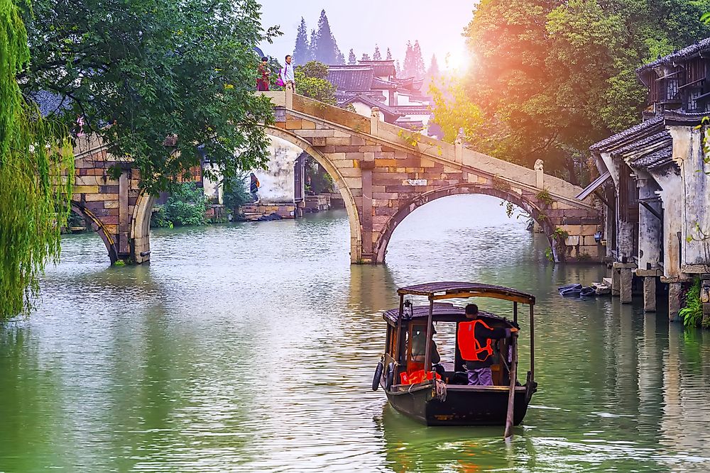
M 486 194 L 488 196 L 498 197 L 498 199 L 502 199 L 504 201 L 512 202 L 516 206 L 522 208 L 540 225 L 540 227 L 542 227 L 542 231 L 545 233 L 547 240 L 550 242 L 553 254 L 557 255 L 557 243 L 551 236 L 555 229 L 552 227 L 549 219 L 541 218 L 542 211 L 540 211 L 540 208 L 533 204 L 530 200 L 523 198 L 520 194 L 513 191 L 506 191 L 495 187 L 486 187 L 481 184 L 456 184 L 428 191 L 424 194 L 419 194 L 400 206 L 397 213 L 389 218 L 374 245 L 373 252 L 376 256 L 376 262 L 385 262 L 387 245 L 390 243 L 390 239 L 392 238 L 395 228 L 397 228 L 397 226 L 402 223 L 410 213 L 431 201 L 441 199 L 442 197 L 461 194 Z

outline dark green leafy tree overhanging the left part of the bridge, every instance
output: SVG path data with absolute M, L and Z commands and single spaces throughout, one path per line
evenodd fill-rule
M 24 14 L 23 92 L 60 95 L 67 126 L 81 116 L 109 152 L 133 159 L 148 191 L 199 165 L 197 145 L 224 176 L 266 162 L 260 123 L 273 112 L 253 94 L 251 48 L 278 30 L 263 30 L 255 0 L 37 0 Z

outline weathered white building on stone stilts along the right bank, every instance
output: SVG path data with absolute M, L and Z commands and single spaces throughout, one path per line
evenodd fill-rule
M 709 61 L 706 38 L 638 69 L 643 121 L 591 147 L 601 176 L 579 195 L 606 204 L 612 294 L 628 303 L 634 280 L 643 282 L 644 309 L 655 311 L 657 282 L 668 284 L 672 319 L 682 284 L 700 277 L 706 301 L 710 286 Z

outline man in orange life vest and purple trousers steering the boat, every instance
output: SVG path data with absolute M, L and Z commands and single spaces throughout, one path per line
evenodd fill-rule
M 466 318 L 470 322 L 459 322 L 457 343 L 461 358 L 466 362 L 469 385 L 493 386 L 493 340 L 510 338 L 517 328 L 492 328 L 479 318 L 479 306 L 466 306 Z

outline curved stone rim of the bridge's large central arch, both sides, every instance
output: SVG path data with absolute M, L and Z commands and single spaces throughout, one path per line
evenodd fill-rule
M 362 249 L 360 216 L 357 211 L 355 198 L 349 187 L 345 184 L 343 176 L 337 167 L 335 167 L 335 165 L 327 157 L 322 155 L 322 153 L 315 150 L 310 143 L 297 135 L 294 135 L 293 133 L 289 133 L 281 128 L 267 126 L 266 134 L 274 138 L 280 138 L 288 141 L 289 143 L 297 146 L 297 148 L 307 152 L 307 154 L 322 165 L 330 177 L 332 177 L 333 182 L 337 184 L 340 194 L 343 197 L 345 208 L 348 213 L 348 221 L 350 225 L 350 260 L 351 262 L 359 262 L 361 259 Z M 153 211 L 154 203 L 155 198 L 153 196 L 142 192 L 141 195 L 138 196 L 136 206 L 133 209 L 133 218 L 131 219 L 131 242 L 133 259 L 137 263 L 146 262 L 150 259 L 151 212 Z

